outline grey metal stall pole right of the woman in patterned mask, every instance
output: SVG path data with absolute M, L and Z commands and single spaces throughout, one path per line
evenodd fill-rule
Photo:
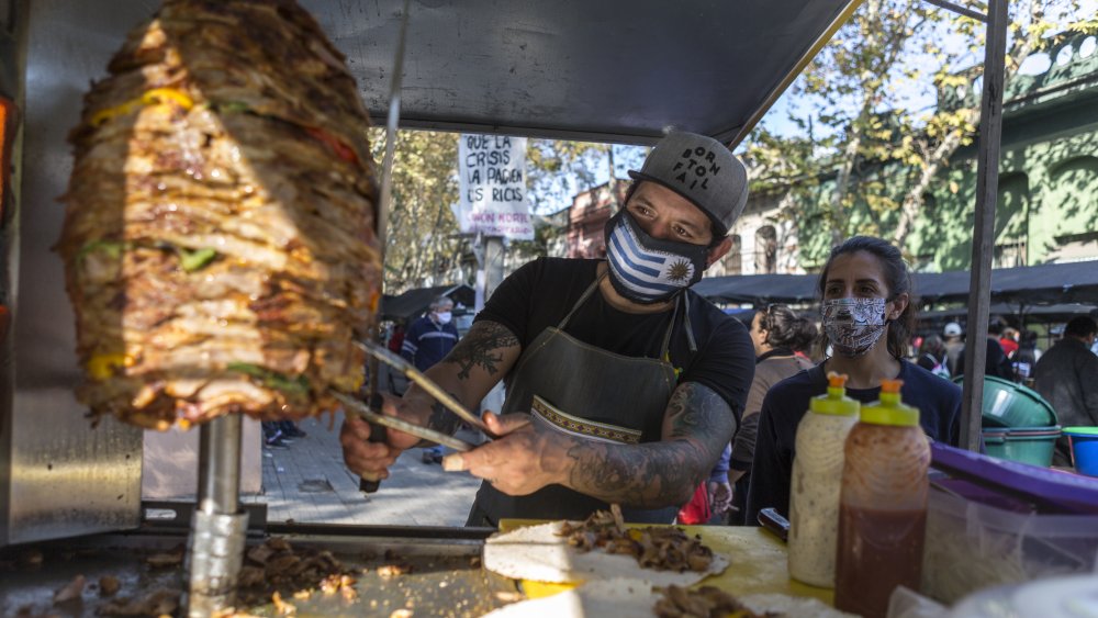
M 984 91 L 979 112 L 979 151 L 976 162 L 976 223 L 972 240 L 968 283 L 968 336 L 965 342 L 961 443 L 979 448 L 987 362 L 987 314 L 991 305 L 991 256 L 995 248 L 995 202 L 999 184 L 999 146 L 1002 137 L 1002 85 L 1007 55 L 1007 0 L 988 3 L 987 42 L 984 45 Z

